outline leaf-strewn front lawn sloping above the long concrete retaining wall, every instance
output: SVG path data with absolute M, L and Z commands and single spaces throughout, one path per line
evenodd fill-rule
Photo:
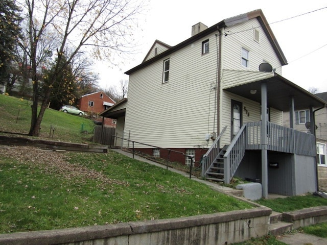
M 0 233 L 252 208 L 169 170 L 107 154 L 0 148 Z

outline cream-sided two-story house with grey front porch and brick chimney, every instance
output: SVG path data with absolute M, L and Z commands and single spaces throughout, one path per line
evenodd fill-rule
M 315 137 L 294 124 L 283 127 L 283 111 L 291 111 L 294 121 L 295 110 L 324 101 L 283 78 L 286 64 L 261 10 L 209 28 L 198 23 L 175 46 L 156 40 L 144 61 L 125 72 L 128 100 L 100 115 L 117 119 L 121 138 L 194 156 L 204 178 L 255 180 L 265 198 L 268 191 L 313 192 Z M 131 147 L 126 140 L 116 144 Z M 137 148 L 161 154 L 147 145 Z

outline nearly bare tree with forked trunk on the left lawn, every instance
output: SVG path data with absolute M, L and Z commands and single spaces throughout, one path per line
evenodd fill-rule
M 92 48 L 92 56 L 108 59 L 132 47 L 132 26 L 141 12 L 142 2 L 137 0 L 20 0 L 25 18 L 29 21 L 31 72 L 33 79 L 33 105 L 29 135 L 38 136 L 41 121 L 49 103 L 52 84 L 57 74 L 71 64 L 79 52 Z M 37 50 L 47 30 L 55 30 L 59 45 L 56 48 L 54 72 L 42 89 L 41 108 L 38 113 Z M 69 54 L 67 54 L 69 52 Z M 63 57 L 66 58 L 62 62 Z

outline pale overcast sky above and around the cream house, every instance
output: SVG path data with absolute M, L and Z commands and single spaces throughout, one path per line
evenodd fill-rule
M 198 22 L 211 27 L 223 19 L 262 9 L 269 23 L 314 11 L 270 27 L 288 60 L 282 76 L 302 88 L 327 91 L 327 0 L 150 0 L 148 9 L 142 30 L 135 31 L 138 53 L 114 69 L 97 64 L 102 88 L 128 80 L 124 72 L 143 61 L 156 39 L 174 46 L 191 37 L 191 28 Z

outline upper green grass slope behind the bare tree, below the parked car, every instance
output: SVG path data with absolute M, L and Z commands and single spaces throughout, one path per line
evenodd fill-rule
M 31 125 L 31 104 L 30 100 L 0 94 L 0 131 L 28 134 Z M 95 124 L 81 116 L 46 109 L 41 122 L 40 137 L 48 138 L 51 126 L 56 129 L 54 140 L 81 143 L 92 136 Z

